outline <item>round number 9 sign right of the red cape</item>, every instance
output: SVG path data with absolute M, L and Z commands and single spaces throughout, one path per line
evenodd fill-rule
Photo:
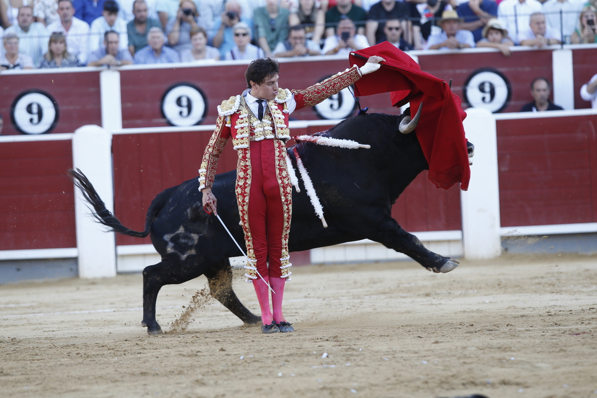
M 512 98 L 512 86 L 499 70 L 484 67 L 473 71 L 464 82 L 464 101 L 471 107 L 492 113 L 506 109 Z

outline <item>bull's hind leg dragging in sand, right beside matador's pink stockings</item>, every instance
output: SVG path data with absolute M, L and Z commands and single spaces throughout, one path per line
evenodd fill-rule
M 243 306 L 232 290 L 232 270 L 228 259 L 223 260 L 223 266 L 219 269 L 205 271 L 205 276 L 207 276 L 210 283 L 211 296 L 238 316 L 242 322 L 261 322 L 261 317 L 253 314 L 247 307 Z

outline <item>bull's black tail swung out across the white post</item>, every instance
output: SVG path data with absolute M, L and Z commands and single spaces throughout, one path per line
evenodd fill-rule
M 96 189 L 91 184 L 91 181 L 87 178 L 85 174 L 82 173 L 80 169 L 68 171 L 68 177 L 70 180 L 75 184 L 78 189 L 81 190 L 83 194 L 83 198 L 87 203 L 89 203 L 93 209 L 91 214 L 93 217 L 104 226 L 108 227 L 113 232 L 118 232 L 123 235 L 129 236 L 136 236 L 136 237 L 146 237 L 149 235 L 151 224 L 153 220 L 155 220 L 156 215 L 160 211 L 160 209 L 164 206 L 163 200 L 156 200 L 159 198 L 154 199 L 151 206 L 149 206 L 149 211 L 147 211 L 147 217 L 145 220 L 145 230 L 143 232 L 133 231 L 128 229 L 115 217 L 108 209 L 106 209 L 106 205 L 104 204 L 103 200 L 101 200 L 100 196 L 97 194 Z

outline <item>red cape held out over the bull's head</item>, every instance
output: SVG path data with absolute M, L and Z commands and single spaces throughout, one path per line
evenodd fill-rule
M 416 133 L 429 163 L 429 180 L 444 189 L 460 183 L 460 189 L 466 191 L 470 167 L 462 125 L 466 113 L 460 106 L 460 98 L 452 93 L 446 82 L 421 71 L 413 58 L 387 41 L 354 53 L 350 53 L 351 65 L 363 66 L 371 55 L 385 59 L 377 72 L 365 75 L 355 83 L 355 95 L 390 91 L 392 105 L 400 107 L 410 102 L 413 116 L 422 102 Z

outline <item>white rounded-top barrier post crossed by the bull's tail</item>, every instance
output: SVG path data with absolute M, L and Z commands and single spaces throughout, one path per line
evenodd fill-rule
M 76 129 L 73 135 L 73 167 L 81 169 L 97 190 L 106 208 L 114 211 L 112 181 L 112 134 L 95 125 Z M 79 277 L 116 276 L 116 241 L 90 216 L 87 203 L 75 188 L 76 241 Z

